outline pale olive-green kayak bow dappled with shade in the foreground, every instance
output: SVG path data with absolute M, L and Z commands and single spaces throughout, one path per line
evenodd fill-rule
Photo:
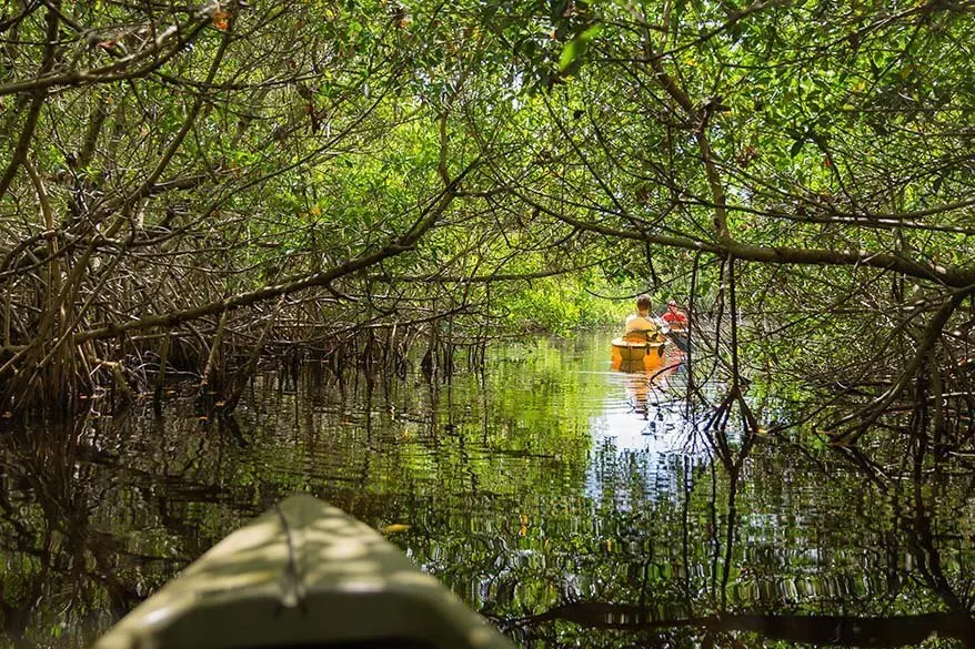
M 512 649 L 375 530 L 298 495 L 231 534 L 96 649 Z

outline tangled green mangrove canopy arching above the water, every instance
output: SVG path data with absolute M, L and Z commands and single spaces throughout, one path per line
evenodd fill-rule
M 219 388 L 264 347 L 445 353 L 650 291 L 731 323 L 736 388 L 843 376 L 855 440 L 928 366 L 967 392 L 972 11 L 17 2 L 4 412 L 148 388 L 161 341 Z

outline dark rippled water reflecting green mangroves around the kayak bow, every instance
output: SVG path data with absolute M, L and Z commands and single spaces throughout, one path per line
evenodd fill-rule
M 686 367 L 613 372 L 609 337 L 499 346 L 449 386 L 265 374 L 233 422 L 174 394 L 3 434 L 0 647 L 87 645 L 294 491 L 527 647 L 975 646 L 972 458 L 770 436 L 722 462 Z

